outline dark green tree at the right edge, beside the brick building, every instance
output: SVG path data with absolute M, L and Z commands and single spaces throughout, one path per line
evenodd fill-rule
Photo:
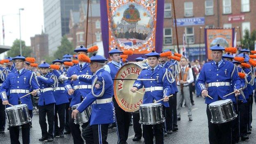
M 249 30 L 245 30 L 245 36 L 242 40 L 242 47 L 249 48 L 250 50 L 254 50 L 254 41 L 256 40 L 256 31 L 253 30 L 250 34 Z

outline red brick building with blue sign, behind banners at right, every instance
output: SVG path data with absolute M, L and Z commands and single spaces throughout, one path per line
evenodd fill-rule
M 237 46 L 245 29 L 250 32 L 256 30 L 255 0 L 178 0 L 175 1 L 175 8 L 179 48 L 183 48 L 185 34 L 185 47 L 190 60 L 206 59 L 204 28 L 234 27 Z M 164 16 L 163 49 L 175 49 L 177 43 L 171 0 L 165 1 Z

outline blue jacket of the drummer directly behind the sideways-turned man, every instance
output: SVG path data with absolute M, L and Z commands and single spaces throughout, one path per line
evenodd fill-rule
M 82 75 L 82 74 L 87 74 L 87 75 L 92 75 L 93 73 L 91 73 L 91 69 L 89 67 L 89 64 L 86 63 L 85 66 L 83 66 L 82 70 L 80 70 L 80 66 L 79 64 L 75 65 L 75 66 L 71 66 L 69 68 L 69 70 L 67 71 L 67 77 L 71 77 L 72 75 Z M 89 89 L 74 89 L 74 94 L 72 96 L 72 100 L 70 103 L 70 106 L 76 105 L 78 103 L 81 103 L 81 96 L 84 98 L 87 94 L 89 94 L 89 92 L 91 91 L 91 84 L 87 83 L 87 82 L 82 82 L 79 80 L 75 80 L 72 81 L 71 80 L 66 80 L 64 82 L 65 88 L 68 91 L 69 89 L 73 88 L 75 86 L 79 86 L 79 85 L 89 85 Z

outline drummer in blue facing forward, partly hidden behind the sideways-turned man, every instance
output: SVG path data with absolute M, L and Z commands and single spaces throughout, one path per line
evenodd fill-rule
M 84 46 L 80 46 L 74 50 L 78 55 L 85 54 L 87 55 L 87 48 Z M 67 77 L 71 77 L 71 75 L 92 75 L 89 64 L 87 62 L 82 62 L 79 60 L 77 65 L 71 66 L 66 73 Z M 68 90 L 69 95 L 72 96 L 72 100 L 69 108 L 69 128 L 71 130 L 71 134 L 73 136 L 74 144 L 84 144 L 84 140 L 81 137 L 80 125 L 74 123 L 74 119 L 71 118 L 71 107 L 78 103 L 81 103 L 83 98 L 90 93 L 91 91 L 91 83 L 81 82 L 79 80 L 66 80 L 65 87 Z M 82 128 L 85 129 L 88 123 L 83 123 Z

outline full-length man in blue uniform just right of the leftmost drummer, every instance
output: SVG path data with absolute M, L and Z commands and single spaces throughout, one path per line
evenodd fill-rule
M 53 142 L 54 136 L 54 108 L 55 108 L 55 99 L 53 96 L 53 85 L 55 84 L 53 73 L 49 73 L 50 65 L 46 62 L 40 64 L 39 69 L 42 73 L 38 73 L 38 82 L 40 85 L 41 95 L 38 100 L 38 109 L 39 109 L 39 124 L 42 131 L 42 137 L 39 141 Z M 48 132 L 47 132 L 47 123 L 46 115 L 48 121 Z

